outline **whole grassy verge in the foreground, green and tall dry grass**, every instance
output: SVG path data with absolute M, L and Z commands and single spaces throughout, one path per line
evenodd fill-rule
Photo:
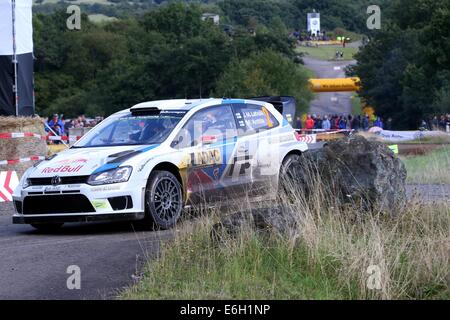
M 411 202 L 385 215 L 333 201 L 320 191 L 293 199 L 287 230 L 244 226 L 220 242 L 211 239 L 218 212 L 186 221 L 119 298 L 450 298 L 447 204 Z M 377 290 L 367 286 L 373 265 L 381 272 Z

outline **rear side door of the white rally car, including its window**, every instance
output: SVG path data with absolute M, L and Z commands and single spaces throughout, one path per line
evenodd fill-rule
M 276 172 L 277 144 L 276 129 L 278 120 L 266 107 L 253 104 L 237 104 L 233 106 L 237 120 L 239 138 L 237 142 L 237 158 L 242 161 L 239 171 L 241 180 L 256 191 L 265 187 Z

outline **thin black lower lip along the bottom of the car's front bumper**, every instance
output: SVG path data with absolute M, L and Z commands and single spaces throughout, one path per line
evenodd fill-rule
M 145 216 L 144 212 L 138 213 L 111 213 L 111 214 L 75 214 L 75 215 L 21 215 L 13 216 L 14 224 L 38 224 L 38 223 L 66 223 L 66 222 L 94 222 L 94 221 L 136 221 Z

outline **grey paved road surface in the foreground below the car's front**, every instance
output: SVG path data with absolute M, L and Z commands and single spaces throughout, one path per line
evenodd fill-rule
M 0 299 L 111 299 L 171 231 L 135 231 L 130 224 L 72 224 L 43 234 L 11 224 L 0 204 Z M 81 271 L 81 289 L 69 290 L 69 266 Z

